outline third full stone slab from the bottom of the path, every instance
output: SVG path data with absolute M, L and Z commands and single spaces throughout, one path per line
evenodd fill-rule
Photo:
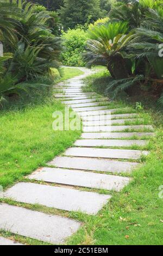
M 82 170 L 68 170 L 44 167 L 28 176 L 29 179 L 43 180 L 72 186 L 99 188 L 120 191 L 130 179 L 121 176 L 84 172 Z

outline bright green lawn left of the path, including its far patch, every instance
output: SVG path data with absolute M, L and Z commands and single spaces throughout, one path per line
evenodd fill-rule
M 83 74 L 78 69 L 63 71 L 64 76 L 57 82 Z M 80 135 L 79 131 L 52 129 L 52 113 L 64 112 L 64 105 L 50 95 L 37 93 L 25 106 L 24 102 L 16 101 L 10 109 L 0 112 L 0 185 L 4 188 L 43 166 Z

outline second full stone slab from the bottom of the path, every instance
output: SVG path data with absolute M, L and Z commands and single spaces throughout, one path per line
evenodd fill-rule
M 97 214 L 110 199 L 106 194 L 26 182 L 9 188 L 6 197 L 17 202 L 40 204 L 66 211 L 82 211 L 86 214 Z

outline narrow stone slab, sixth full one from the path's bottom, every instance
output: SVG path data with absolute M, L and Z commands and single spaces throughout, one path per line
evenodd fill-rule
M 147 141 L 123 139 L 79 139 L 74 145 L 79 147 L 130 147 L 132 145 L 144 146 Z

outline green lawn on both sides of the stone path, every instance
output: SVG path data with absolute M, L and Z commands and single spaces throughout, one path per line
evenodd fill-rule
M 69 72 L 71 71 L 68 71 L 68 75 Z M 132 107 L 120 101 L 114 103 L 122 107 Z M 70 147 L 80 134 L 52 130 L 52 113 L 55 110 L 64 111 L 64 106 L 51 97 L 40 96 L 35 103 L 27 104 L 21 110 L 16 106 L 15 108 L 16 110 L 11 108 L 10 111 L 1 111 L 0 184 L 4 187 L 14 181 L 23 180 L 24 175 L 46 164 L 55 155 Z M 7 199 L 2 199 L 2 202 L 81 221 L 82 227 L 68 239 L 67 245 L 162 245 L 163 188 L 162 192 L 159 190 L 163 185 L 162 117 L 160 113 L 149 110 L 139 112 L 135 109 L 135 112 L 140 113 L 140 117 L 147 123 L 152 121 L 154 124 L 155 136 L 148 137 L 151 153 L 130 175 L 133 180 L 121 192 L 78 187 L 79 190 L 112 195 L 110 202 L 96 216 L 36 204 L 21 204 Z M 14 237 L 16 241 L 30 245 L 45 244 L 2 230 L 0 235 Z

